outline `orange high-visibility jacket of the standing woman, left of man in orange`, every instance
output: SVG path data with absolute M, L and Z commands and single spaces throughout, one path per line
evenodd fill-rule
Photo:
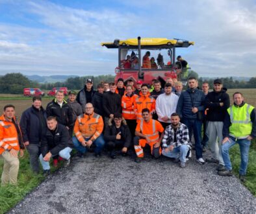
M 125 119 L 136 119 L 136 113 L 134 112 L 134 102 L 138 95 L 132 97 L 127 94 L 122 97 L 122 115 Z

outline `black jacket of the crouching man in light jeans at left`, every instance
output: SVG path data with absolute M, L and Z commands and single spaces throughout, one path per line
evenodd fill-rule
M 47 128 L 41 141 L 42 156 L 44 157 L 49 151 L 53 156 L 56 156 L 60 150 L 66 147 L 72 147 L 68 129 L 61 124 L 58 124 L 53 131 Z

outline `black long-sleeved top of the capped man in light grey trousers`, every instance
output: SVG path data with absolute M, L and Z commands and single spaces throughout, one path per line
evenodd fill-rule
M 205 109 L 207 110 L 207 121 L 224 121 L 225 112 L 230 106 L 229 95 L 226 93 L 227 89 L 222 89 L 220 92 L 212 91 L 205 97 Z M 224 106 L 220 106 L 220 102 Z

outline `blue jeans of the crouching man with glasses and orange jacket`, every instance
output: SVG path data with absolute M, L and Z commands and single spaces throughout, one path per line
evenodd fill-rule
M 88 141 L 89 139 L 90 138 L 86 138 L 85 140 Z M 79 142 L 77 137 L 73 136 L 72 141 L 73 141 L 73 145 L 74 145 L 75 149 L 78 152 L 81 152 L 82 154 L 84 154 L 87 151 L 87 148 L 83 147 L 82 143 Z M 96 148 L 94 149 L 95 154 L 101 153 L 101 150 L 103 149 L 103 147 L 105 145 L 103 135 L 101 134 L 99 137 L 97 137 L 97 139 L 92 144 L 96 145 Z

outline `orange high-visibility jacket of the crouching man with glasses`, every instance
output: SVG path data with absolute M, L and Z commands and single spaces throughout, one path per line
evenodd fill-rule
M 92 115 L 79 115 L 75 121 L 74 132 L 75 136 L 80 142 L 83 142 L 84 138 L 90 138 L 95 141 L 97 137 L 103 131 L 103 119 L 101 115 L 93 113 Z

